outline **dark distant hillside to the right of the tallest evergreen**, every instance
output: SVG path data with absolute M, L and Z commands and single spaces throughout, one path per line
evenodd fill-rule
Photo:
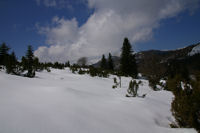
M 190 45 L 188 47 L 169 51 L 149 50 L 137 53 L 138 70 L 145 75 L 163 76 L 167 72 L 167 66 L 174 60 L 184 61 L 190 60 L 189 53 L 196 46 Z M 197 60 L 198 61 L 198 60 Z M 186 64 L 185 64 L 186 65 Z M 192 64 L 187 64 L 192 65 Z

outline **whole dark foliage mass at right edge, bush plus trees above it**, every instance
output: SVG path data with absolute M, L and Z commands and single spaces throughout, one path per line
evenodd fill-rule
M 166 89 L 175 95 L 171 104 L 172 114 L 178 124 L 175 126 L 195 128 L 200 132 L 199 59 L 200 56 L 197 54 L 180 60 L 171 60 L 167 71 Z M 190 75 L 195 75 L 195 79 L 191 79 Z

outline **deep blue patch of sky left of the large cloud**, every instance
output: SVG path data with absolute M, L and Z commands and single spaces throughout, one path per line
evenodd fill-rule
M 27 45 L 34 49 L 45 44 L 45 37 L 38 34 L 36 23 L 48 24 L 55 15 L 71 19 L 77 18 L 82 25 L 92 10 L 87 5 L 71 3 L 73 9 L 37 5 L 35 0 L 0 1 L 0 41 L 6 42 L 18 57 L 24 55 Z

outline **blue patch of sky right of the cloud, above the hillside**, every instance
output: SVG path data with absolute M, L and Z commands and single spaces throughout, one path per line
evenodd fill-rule
M 177 18 L 164 20 L 155 30 L 152 40 L 138 45 L 137 50 L 170 50 L 200 42 L 200 9 L 194 14 L 188 12 Z

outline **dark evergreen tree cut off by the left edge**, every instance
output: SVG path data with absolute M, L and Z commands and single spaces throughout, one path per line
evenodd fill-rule
M 9 52 L 10 48 L 5 44 L 2 43 L 0 46 L 0 65 L 6 65 L 6 60 L 9 56 L 8 52 Z

